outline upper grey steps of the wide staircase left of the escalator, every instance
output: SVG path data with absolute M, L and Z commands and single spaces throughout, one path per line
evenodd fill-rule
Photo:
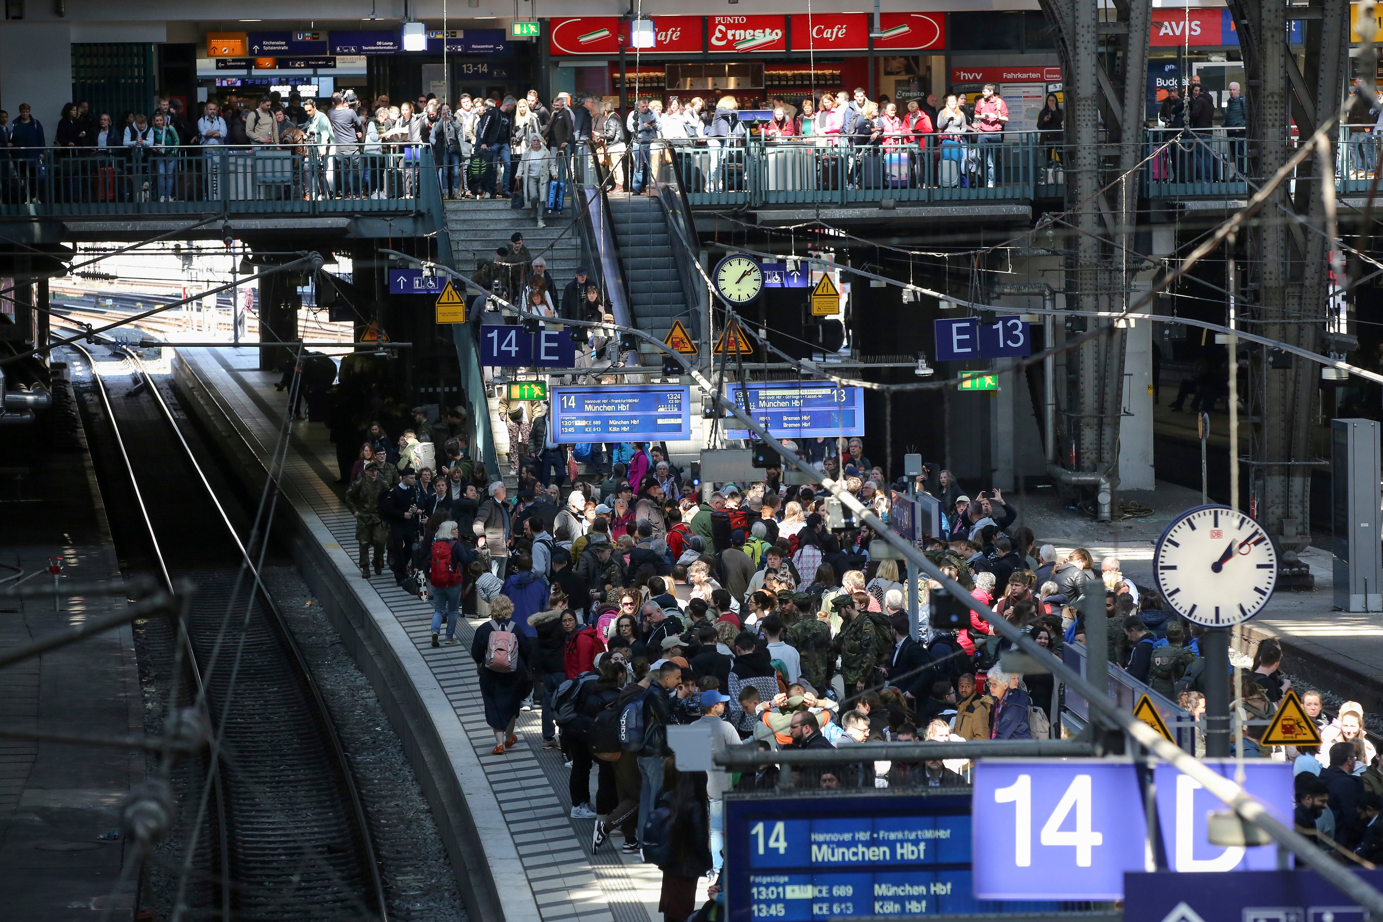
M 445 206 L 447 235 L 459 271 L 469 275 L 477 261 L 495 258 L 495 250 L 509 246 L 509 236 L 519 231 L 528 252 L 548 263 L 548 274 L 559 292 L 575 274 L 581 261 L 581 238 L 571 227 L 570 205 L 560 216 L 544 218 L 545 228 L 538 227 L 531 207 L 510 209 L 509 199 L 461 199 L 445 202 Z

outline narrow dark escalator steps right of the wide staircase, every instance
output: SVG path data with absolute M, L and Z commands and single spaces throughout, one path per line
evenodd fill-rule
M 664 339 L 678 317 L 687 322 L 687 297 L 672 261 L 672 236 L 658 199 L 610 195 L 610 223 L 635 325 Z

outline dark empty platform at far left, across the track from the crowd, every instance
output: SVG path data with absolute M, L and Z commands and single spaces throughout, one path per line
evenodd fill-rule
M 124 593 L 54 600 L 61 585 L 123 582 L 72 391 L 54 382 L 54 408 L 29 433 L 43 445 L 10 452 L 0 470 L 0 650 L 113 614 Z M 11 430 L 14 431 L 14 430 Z M 51 737 L 144 734 L 130 625 L 0 669 L 0 905 L 6 918 L 131 919 L 136 886 L 122 879 L 133 846 L 119 835 L 120 809 L 145 777 L 145 756 L 126 746 L 55 742 Z

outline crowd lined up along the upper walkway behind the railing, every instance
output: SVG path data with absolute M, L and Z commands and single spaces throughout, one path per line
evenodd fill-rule
M 621 112 L 610 101 L 567 93 L 548 105 L 535 90 L 523 98 L 462 94 L 455 105 L 431 94 L 396 104 L 387 95 L 361 100 L 349 88 L 322 100 L 274 91 L 259 100 L 209 100 L 195 111 L 177 97 L 159 97 L 148 113 L 102 113 L 87 101 L 69 102 L 48 134 L 25 104 L 12 122 L 0 111 L 0 195 L 21 202 L 44 194 L 62 202 L 214 200 L 228 181 L 216 148 L 231 145 L 297 158 L 272 167 L 259 162 L 254 185 L 270 187 L 274 198 L 408 198 L 419 151 L 430 148 L 444 196 L 512 198 L 541 220 L 549 184 L 566 181 L 574 169 L 595 170 L 614 191 L 643 192 L 651 184 L 656 141 L 679 148 L 679 169 L 693 188 L 722 191 L 737 181 L 733 148 L 755 131 L 770 145 L 841 148 L 844 164 L 813 167 L 813 182 L 1001 181 L 1003 167 L 986 145 L 1003 142 L 1008 108 L 993 84 L 974 100 L 953 94 L 940 104 L 934 94 L 900 106 L 855 88 L 769 105 L 772 120 L 755 129 L 740 123 L 732 95 L 672 95 L 667 105 L 640 98 Z M 1061 159 L 1062 120 L 1055 94 L 1048 95 L 1039 129 L 1051 163 Z M 781 169 L 770 173 L 795 178 L 779 176 Z M 54 181 L 40 182 L 44 177 Z

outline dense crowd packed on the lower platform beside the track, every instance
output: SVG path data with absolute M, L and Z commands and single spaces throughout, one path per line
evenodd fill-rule
M 470 655 L 492 755 L 519 745 L 524 711 L 541 711 L 541 746 L 567 763 L 571 817 L 596 821 L 593 847 L 618 836 L 625 853 L 662 867 L 671 919 L 692 914 L 697 878 L 715 878 L 723 864 L 732 775 L 678 773 L 668 726 L 703 723 L 726 746 L 763 751 L 1059 735 L 1051 675 L 1005 672 L 1008 641 L 992 621 L 1059 657 L 1065 644 L 1086 643 L 1091 596 L 1104 601 L 1111 662 L 1205 715 L 1203 628 L 1126 578 L 1117 558 L 1039 545 L 1015 525 L 1018 510 L 1001 491 L 971 498 L 936 466 L 911 484 L 946 510 L 945 534 L 927 539 L 924 553 L 993 612 L 965 612 L 958 626 L 945 617 L 954 605 L 940 583 L 916 575 L 914 626 L 906 567 L 871 554 L 869 527 L 828 521 L 826 493 L 784 484 L 776 467 L 763 481 L 704 495 L 662 445 L 607 445 L 604 460 L 577 478 L 570 446 L 538 440 L 516 449 L 510 498 L 455 440 L 433 464 L 420 464 L 422 444 L 414 430 L 393 440 L 371 427 L 347 491 L 361 521 L 362 575 L 371 550 L 380 574 L 387 545 L 396 579 L 430 594 L 433 646 L 461 641 L 462 611 L 477 619 Z M 888 482 L 857 438 L 790 448 L 820 455 L 823 474 L 881 514 L 893 491 L 910 487 Z M 1294 759 L 1297 821 L 1308 817 L 1325 847 L 1383 852 L 1375 814 L 1362 809 L 1383 795 L 1383 766 L 1358 705 L 1328 722 L 1321 695 L 1308 691 L 1319 751 L 1259 742 L 1290 688 L 1281 665 L 1281 646 L 1264 640 L 1239 677 L 1235 749 Z M 1196 751 L 1205 753 L 1199 728 Z M 968 769 L 911 753 L 852 762 L 846 752 L 786 780 L 777 766 L 745 771 L 737 785 L 950 787 L 968 784 Z M 682 832 L 669 838 L 672 828 Z

